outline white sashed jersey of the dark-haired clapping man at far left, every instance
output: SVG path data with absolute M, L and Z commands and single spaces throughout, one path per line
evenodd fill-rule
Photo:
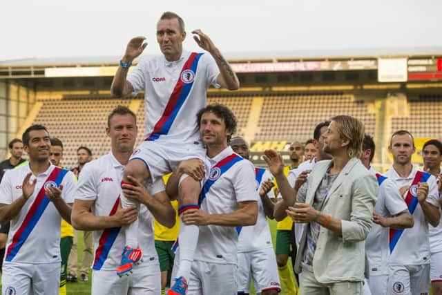
M 23 180 L 30 173 L 29 164 L 7 171 L 0 184 L 0 203 L 11 204 L 22 195 Z M 31 175 L 32 182 L 37 178 L 34 193 L 10 221 L 5 261 L 14 263 L 57 263 L 60 256 L 61 216 L 55 205 L 45 196 L 44 187 L 63 186 L 61 198 L 73 203 L 75 175 L 49 164 L 40 175 Z

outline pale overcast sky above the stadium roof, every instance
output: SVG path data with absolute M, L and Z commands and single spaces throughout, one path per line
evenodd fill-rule
M 0 60 L 122 55 L 148 38 L 162 12 L 181 15 L 188 37 L 200 28 L 224 53 L 280 50 L 442 47 L 442 1 L 3 1 Z M 442 53 L 441 53 L 442 54 Z

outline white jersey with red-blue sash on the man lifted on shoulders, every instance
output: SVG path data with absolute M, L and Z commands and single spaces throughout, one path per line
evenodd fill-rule
M 146 138 L 180 144 L 198 141 L 196 115 L 206 106 L 207 88 L 219 87 L 219 73 L 206 53 L 184 51 L 177 61 L 164 56 L 140 61 L 127 80 L 135 93 L 144 90 Z

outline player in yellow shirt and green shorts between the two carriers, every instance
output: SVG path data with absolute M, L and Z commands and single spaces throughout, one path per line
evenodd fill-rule
M 164 183 L 167 183 L 169 180 L 169 176 L 164 175 Z M 173 253 L 172 246 L 175 240 L 178 237 L 178 233 L 180 232 L 180 218 L 177 214 L 178 212 L 178 201 L 171 201 L 173 209 L 175 209 L 175 226 L 171 229 L 168 227 L 164 227 L 157 222 L 157 220 L 153 219 L 153 231 L 155 233 L 155 249 L 157 249 L 158 259 L 160 260 L 160 270 L 161 270 L 161 294 L 166 294 L 166 284 L 167 281 L 170 280 L 172 267 L 173 267 L 173 259 L 175 259 L 175 254 Z

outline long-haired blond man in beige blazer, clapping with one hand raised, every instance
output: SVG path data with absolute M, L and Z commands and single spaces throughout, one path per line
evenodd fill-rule
M 332 118 L 324 151 L 332 160 L 316 163 L 290 187 L 276 151 L 265 151 L 287 213 L 303 224 L 295 272 L 302 295 L 362 294 L 365 238 L 372 228 L 378 184 L 359 160 L 364 126 L 354 117 Z

